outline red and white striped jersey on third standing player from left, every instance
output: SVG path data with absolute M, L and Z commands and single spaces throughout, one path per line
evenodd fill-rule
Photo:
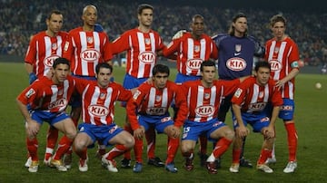
M 113 53 L 126 53 L 126 73 L 135 78 L 149 78 L 156 63 L 156 52 L 164 47 L 160 35 L 151 30 L 143 33 L 137 28 L 126 31 L 113 42 Z

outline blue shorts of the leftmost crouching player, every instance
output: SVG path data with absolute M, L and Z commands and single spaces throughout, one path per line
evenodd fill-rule
M 65 112 L 49 112 L 49 111 L 30 111 L 32 120 L 36 120 L 37 123 L 43 124 L 44 121 L 54 126 L 56 122 L 70 118 L 70 116 Z

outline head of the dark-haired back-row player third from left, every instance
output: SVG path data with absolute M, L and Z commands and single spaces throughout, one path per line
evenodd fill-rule
M 137 19 L 140 26 L 150 27 L 154 20 L 154 6 L 141 4 L 137 7 Z

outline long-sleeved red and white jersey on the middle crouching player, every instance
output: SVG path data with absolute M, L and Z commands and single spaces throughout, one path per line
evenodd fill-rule
M 178 85 L 174 82 L 167 81 L 166 87 L 159 90 L 154 83 L 144 82 L 134 93 L 133 98 L 128 101 L 126 111 L 133 130 L 139 128 L 137 114 L 150 116 L 164 116 L 168 113 L 168 109 L 174 101 L 179 109 L 174 125 L 181 127 L 186 119 L 187 107 L 183 92 L 180 91 Z

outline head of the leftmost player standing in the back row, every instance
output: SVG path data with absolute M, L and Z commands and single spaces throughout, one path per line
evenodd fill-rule
M 64 16 L 59 10 L 53 10 L 46 17 L 45 23 L 48 34 L 50 34 L 50 36 L 54 36 L 63 28 Z

